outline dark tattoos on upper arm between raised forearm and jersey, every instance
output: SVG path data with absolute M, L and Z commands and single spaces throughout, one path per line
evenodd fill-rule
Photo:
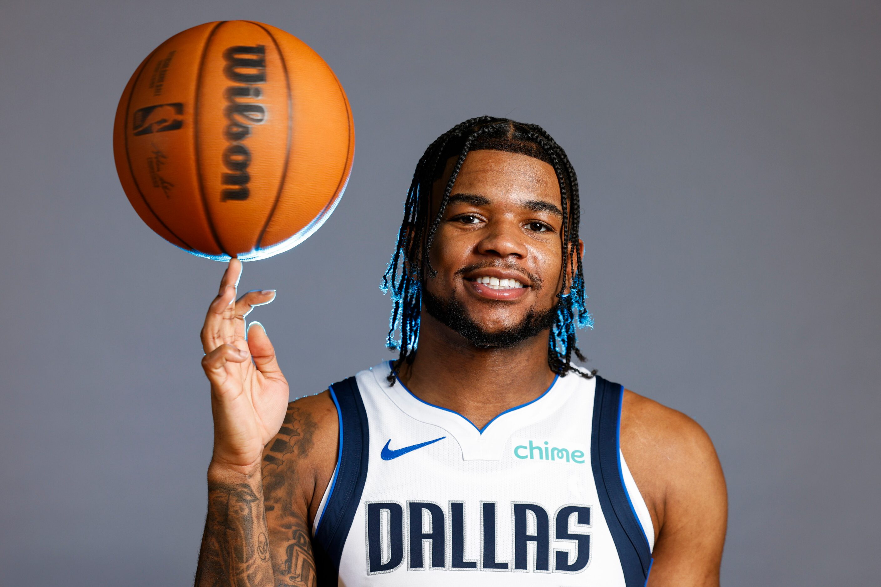
M 292 488 L 302 477 L 298 465 L 312 450 L 315 420 L 293 404 L 278 436 L 264 451 L 263 499 L 272 524 L 270 552 L 278 587 L 314 587 L 315 559 L 307 520 L 294 508 Z

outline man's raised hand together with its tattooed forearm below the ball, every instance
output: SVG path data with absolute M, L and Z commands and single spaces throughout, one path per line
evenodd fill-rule
M 275 584 L 260 465 L 264 446 L 285 419 L 288 385 L 263 327 L 245 327 L 251 309 L 272 301 L 275 292 L 248 291 L 236 301 L 240 276 L 241 261 L 230 260 L 202 328 L 214 452 L 196 587 Z M 310 578 L 314 583 L 314 574 Z

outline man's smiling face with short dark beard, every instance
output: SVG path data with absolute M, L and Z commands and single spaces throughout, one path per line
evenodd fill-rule
M 433 216 L 454 163 L 434 182 Z M 513 346 L 549 328 L 563 285 L 561 208 L 552 165 L 470 151 L 429 253 L 437 275 L 425 282 L 426 311 L 478 346 Z

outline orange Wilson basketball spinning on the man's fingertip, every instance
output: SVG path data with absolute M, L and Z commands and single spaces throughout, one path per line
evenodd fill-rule
M 141 219 L 211 259 L 263 259 L 298 245 L 343 194 L 352 109 L 306 43 L 247 20 L 165 41 L 122 92 L 116 171 Z

